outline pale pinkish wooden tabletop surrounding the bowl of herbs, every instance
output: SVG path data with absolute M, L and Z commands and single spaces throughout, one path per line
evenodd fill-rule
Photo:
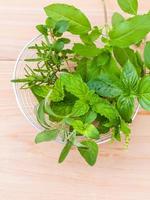
M 99 0 L 54 2 L 79 6 L 93 23 L 102 20 Z M 10 79 L 19 51 L 38 34 L 34 26 L 43 22 L 42 8 L 49 3 L 0 0 L 0 199 L 149 200 L 149 112 L 140 110 L 133 122 L 129 149 L 118 143 L 101 145 L 94 167 L 76 150 L 59 165 L 60 144 L 34 144 L 36 130 L 20 113 Z M 107 3 L 110 15 L 116 5 L 114 0 Z M 149 0 L 141 1 L 141 8 L 149 9 Z

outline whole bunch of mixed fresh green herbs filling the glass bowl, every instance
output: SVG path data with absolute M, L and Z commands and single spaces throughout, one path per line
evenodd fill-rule
M 37 57 L 27 58 L 25 77 L 13 80 L 37 98 L 36 117 L 43 131 L 35 142 L 59 138 L 64 143 L 60 163 L 75 146 L 94 165 L 97 140 L 104 134 L 118 141 L 124 136 L 128 145 L 136 102 L 150 110 L 150 42 L 145 44 L 150 13 L 138 15 L 137 0 L 118 4 L 129 18 L 114 13 L 112 25 L 104 27 L 92 27 L 73 6 L 45 7 L 46 22 L 36 27 L 44 40 L 29 47 Z M 65 32 L 80 42 L 73 43 Z

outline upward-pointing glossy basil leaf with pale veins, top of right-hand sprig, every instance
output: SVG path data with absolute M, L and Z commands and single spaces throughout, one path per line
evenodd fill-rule
M 123 67 L 121 80 L 124 84 L 126 91 L 130 94 L 131 91 L 136 92 L 138 86 L 138 74 L 133 64 L 128 61 Z

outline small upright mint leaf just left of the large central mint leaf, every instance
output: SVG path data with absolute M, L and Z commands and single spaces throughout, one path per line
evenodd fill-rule
M 64 88 L 61 79 L 57 79 L 50 94 L 50 99 L 54 102 L 59 102 L 64 99 Z

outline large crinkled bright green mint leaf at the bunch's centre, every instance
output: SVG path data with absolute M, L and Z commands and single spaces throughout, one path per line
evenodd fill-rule
M 61 81 L 68 92 L 80 99 L 86 99 L 89 89 L 80 76 L 64 73 L 61 75 Z

